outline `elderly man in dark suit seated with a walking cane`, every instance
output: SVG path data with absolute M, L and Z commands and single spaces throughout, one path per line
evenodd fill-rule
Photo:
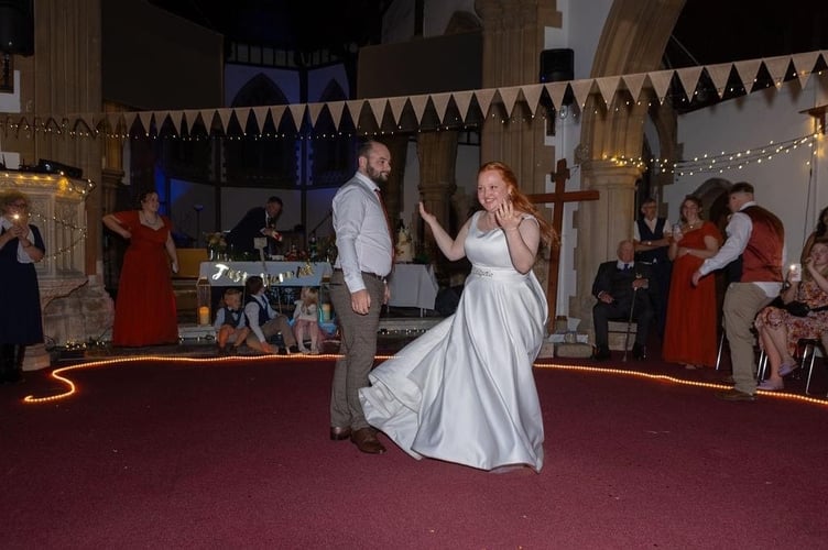
M 618 244 L 618 260 L 604 262 L 598 267 L 592 296 L 598 302 L 592 308 L 592 322 L 596 332 L 596 359 L 610 358 L 608 344 L 608 321 L 630 319 L 636 321 L 635 344 L 632 348 L 634 359 L 646 359 L 646 339 L 653 320 L 653 306 L 650 300 L 652 273 L 650 265 L 635 263 L 635 248 L 632 241 Z

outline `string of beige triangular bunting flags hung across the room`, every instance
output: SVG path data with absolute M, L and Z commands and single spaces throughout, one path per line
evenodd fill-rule
M 732 63 L 720 63 L 715 65 L 699 65 L 695 67 L 685 67 L 679 69 L 654 70 L 650 73 L 634 73 L 629 75 L 610 75 L 597 78 L 586 78 L 569 81 L 556 81 L 545 84 L 529 84 L 523 86 L 505 86 L 500 88 L 484 88 L 478 90 L 461 90 L 439 94 L 423 94 L 415 96 L 400 96 L 390 98 L 371 98 L 355 99 L 346 101 L 315 102 L 315 103 L 293 103 L 281 106 L 255 106 L 255 107 L 235 107 L 235 108 L 216 108 L 216 109 L 184 109 L 184 110 L 159 110 L 159 111 L 126 111 L 126 112 L 86 112 L 86 113 L 29 113 L 24 117 L 22 113 L 0 113 L 0 127 L 21 129 L 30 128 L 32 120 L 35 129 L 43 130 L 54 129 L 55 131 L 76 129 L 86 127 L 90 133 L 107 131 L 121 133 L 127 131 L 143 130 L 144 133 L 160 131 L 161 127 L 168 120 L 170 125 L 178 134 L 185 133 L 186 129 L 192 131 L 200 117 L 204 127 L 210 131 L 220 130 L 227 132 L 232 118 L 244 128 L 252 117 L 259 127 L 259 132 L 264 132 L 268 116 L 272 117 L 276 128 L 283 122 L 285 111 L 291 113 L 293 122 L 297 130 L 303 128 L 305 114 L 307 113 L 310 128 L 315 128 L 319 117 L 325 108 L 328 109 L 336 129 L 340 129 L 342 113 L 347 109 L 353 123 L 359 131 L 366 131 L 366 128 L 359 128 L 362 117 L 372 117 L 377 125 L 382 125 L 389 119 L 393 120 L 395 125 L 401 125 L 406 105 L 411 106 L 416 122 L 423 123 L 428 106 L 434 109 L 437 119 L 444 124 L 455 124 L 458 121 L 446 120 L 449 113 L 448 106 L 454 101 L 460 116 L 461 123 L 465 123 L 471 117 L 472 102 L 477 102 L 480 113 L 483 118 L 490 114 L 493 105 L 502 108 L 506 117 L 516 116 L 515 107 L 521 103 L 525 106 L 526 112 L 532 116 L 537 111 L 538 106 L 544 100 L 543 92 L 546 91 L 548 100 L 556 109 L 560 109 L 566 100 L 568 90 L 575 98 L 575 101 L 584 108 L 591 95 L 599 97 L 604 105 L 610 106 L 619 90 L 627 89 L 633 101 L 642 99 L 646 91 L 651 98 L 664 102 L 671 92 L 671 84 L 675 76 L 678 82 L 684 87 L 688 100 L 693 100 L 695 90 L 698 87 L 702 74 L 709 77 L 719 98 L 722 98 L 727 90 L 727 84 L 731 76 L 739 78 L 745 92 L 750 92 L 753 85 L 759 79 L 759 72 L 764 67 L 771 76 L 774 85 L 780 87 L 785 81 L 785 77 L 793 67 L 794 80 L 805 87 L 814 70 L 821 66 L 821 63 L 828 64 L 828 51 L 814 51 L 793 55 L 765 57 L 760 59 L 745 59 Z M 649 86 L 647 86 L 649 82 Z M 646 90 L 645 90 L 646 89 Z M 454 113 L 454 111 L 451 111 Z M 453 119 L 455 116 L 453 114 Z M 478 118 L 475 117 L 477 120 Z M 59 123 L 57 121 L 61 121 Z M 363 119 L 367 120 L 367 119 Z M 140 123 L 141 129 L 135 127 Z M 221 128 L 216 128 L 220 125 Z

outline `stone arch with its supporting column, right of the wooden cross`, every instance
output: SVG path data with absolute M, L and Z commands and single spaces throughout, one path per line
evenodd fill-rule
M 606 19 L 590 76 L 660 68 L 684 4 L 685 0 L 615 0 Z M 591 330 L 595 298 L 589 288 L 598 265 L 614 257 L 619 239 L 632 234 L 635 183 L 641 178 L 641 169 L 618 166 L 610 158 L 614 155 L 636 158 L 641 154 L 642 129 L 650 112 L 644 96 L 645 91 L 628 105 L 629 97 L 615 94 L 610 106 L 604 106 L 600 96 L 591 96 L 584 109 L 576 153 L 581 165 L 581 186 L 597 189 L 600 199 L 581 204 L 575 221 L 579 239 L 575 251 L 577 292 L 569 309 L 575 317 L 589 321 L 581 329 Z M 675 133 L 664 132 L 669 127 L 667 120 L 656 119 L 658 148 L 663 152 L 675 151 Z

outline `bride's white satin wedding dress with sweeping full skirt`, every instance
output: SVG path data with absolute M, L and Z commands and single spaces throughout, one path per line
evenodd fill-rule
M 371 426 L 416 459 L 540 472 L 544 432 L 532 363 L 546 298 L 532 272 L 512 266 L 503 231 L 478 229 L 481 213 L 466 239 L 472 270 L 457 311 L 374 369 L 360 400 Z

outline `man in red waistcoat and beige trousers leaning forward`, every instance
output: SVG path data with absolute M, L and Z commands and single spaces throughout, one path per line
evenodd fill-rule
M 733 184 L 729 195 L 728 207 L 733 215 L 724 230 L 728 240 L 693 274 L 693 284 L 741 255 L 740 279 L 728 286 L 723 307 L 734 387 L 716 395 L 728 402 L 754 402 L 756 370 L 751 329 L 759 310 L 778 296 L 782 288 L 785 229 L 776 216 L 756 205 L 752 185 L 745 182 Z

